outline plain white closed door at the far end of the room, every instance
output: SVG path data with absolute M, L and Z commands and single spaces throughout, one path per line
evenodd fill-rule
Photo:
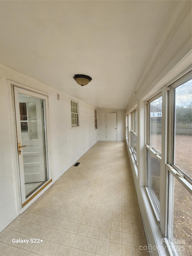
M 106 113 L 106 140 L 117 141 L 117 113 Z

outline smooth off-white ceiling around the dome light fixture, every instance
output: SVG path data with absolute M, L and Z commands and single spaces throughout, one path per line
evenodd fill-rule
M 0 1 L 1 64 L 98 108 L 125 109 L 177 1 Z M 92 77 L 79 86 L 74 74 Z

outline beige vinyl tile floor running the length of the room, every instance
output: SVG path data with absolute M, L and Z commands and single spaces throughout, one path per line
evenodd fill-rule
M 125 142 L 98 141 L 78 162 L 0 233 L 2 256 L 148 255 Z

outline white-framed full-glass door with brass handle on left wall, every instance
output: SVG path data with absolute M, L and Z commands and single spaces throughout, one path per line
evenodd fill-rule
M 16 133 L 22 205 L 49 180 L 47 97 L 14 86 Z

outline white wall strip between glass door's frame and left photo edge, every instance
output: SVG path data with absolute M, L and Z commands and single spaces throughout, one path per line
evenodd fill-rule
M 17 214 L 10 139 L 10 108 L 7 81 L 0 79 L 0 224 L 8 224 Z

